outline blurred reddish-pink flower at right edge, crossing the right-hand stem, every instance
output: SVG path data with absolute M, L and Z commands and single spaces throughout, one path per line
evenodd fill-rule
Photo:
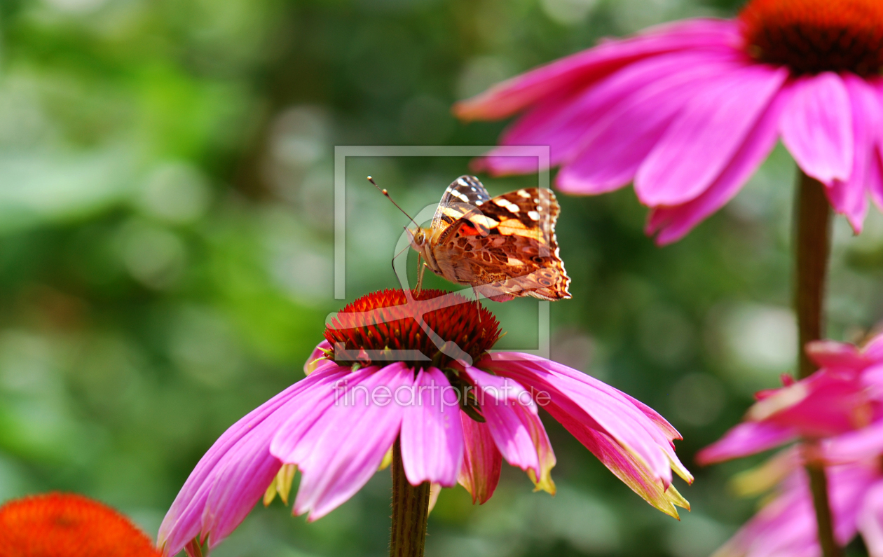
M 699 451 L 698 463 L 717 463 L 802 439 L 823 439 L 883 415 L 883 335 L 863 349 L 817 341 L 807 345 L 819 371 L 783 388 L 758 393 L 742 424 Z

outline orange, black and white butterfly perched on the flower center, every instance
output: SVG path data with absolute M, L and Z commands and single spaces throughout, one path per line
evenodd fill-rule
M 477 177 L 461 176 L 444 191 L 429 228 L 408 233 L 426 267 L 449 282 L 497 302 L 524 296 L 552 301 L 570 298 L 555 239 L 560 212 L 551 190 L 525 188 L 492 198 Z

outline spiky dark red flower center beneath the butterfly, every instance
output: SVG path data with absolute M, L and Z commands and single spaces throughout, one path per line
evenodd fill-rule
M 464 355 L 474 362 L 499 338 L 493 313 L 443 290 L 373 292 L 337 312 L 325 328 L 335 361 L 344 365 L 444 367 Z

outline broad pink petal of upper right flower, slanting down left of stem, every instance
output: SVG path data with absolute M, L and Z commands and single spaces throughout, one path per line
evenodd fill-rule
M 698 86 L 638 169 L 638 199 L 651 207 L 673 206 L 705 192 L 731 164 L 787 78 L 785 68 L 749 65 Z

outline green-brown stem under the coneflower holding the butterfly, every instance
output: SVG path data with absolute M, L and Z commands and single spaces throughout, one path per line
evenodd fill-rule
M 429 482 L 416 487 L 404 476 L 399 442 L 392 448 L 392 529 L 389 557 L 423 557 L 426 518 L 429 516 Z

